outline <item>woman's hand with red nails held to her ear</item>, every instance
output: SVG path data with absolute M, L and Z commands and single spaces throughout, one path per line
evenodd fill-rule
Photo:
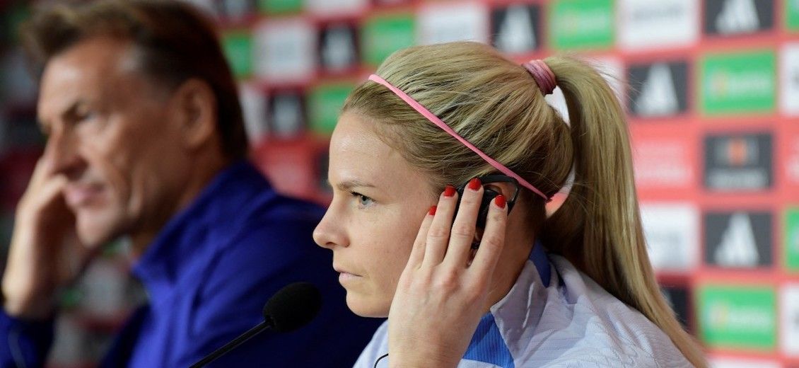
M 472 179 L 453 222 L 458 198 L 448 186 L 424 218 L 388 314 L 391 366 L 455 367 L 463 358 L 490 307 L 491 275 L 505 238 L 507 210 L 499 196 L 491 202 L 479 250 L 471 249 L 482 197 L 479 179 Z

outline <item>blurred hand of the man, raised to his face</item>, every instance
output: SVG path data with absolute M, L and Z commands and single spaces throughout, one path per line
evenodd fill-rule
M 2 278 L 4 307 L 14 317 L 50 318 L 58 290 L 78 277 L 91 256 L 78 242 L 64 186 L 66 178 L 53 173 L 46 156 L 40 158 L 17 206 Z

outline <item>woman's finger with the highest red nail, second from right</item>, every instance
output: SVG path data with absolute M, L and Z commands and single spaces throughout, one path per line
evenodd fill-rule
M 475 240 L 475 224 L 483 200 L 483 186 L 480 179 L 473 178 L 463 189 L 463 197 L 452 223 L 449 246 L 444 262 L 448 266 L 464 268 L 471 255 L 471 243 Z

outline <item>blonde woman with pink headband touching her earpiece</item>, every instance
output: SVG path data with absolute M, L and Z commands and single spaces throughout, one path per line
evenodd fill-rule
M 397 51 L 349 96 L 328 180 L 316 243 L 349 308 L 388 316 L 356 366 L 706 366 L 647 258 L 622 108 L 583 62 Z

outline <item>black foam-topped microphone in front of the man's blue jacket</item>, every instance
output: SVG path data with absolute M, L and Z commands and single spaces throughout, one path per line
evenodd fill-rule
M 234 338 L 225 346 L 214 350 L 200 362 L 194 363 L 190 368 L 198 368 L 217 360 L 230 350 L 240 346 L 256 334 L 264 330 L 272 329 L 277 332 L 290 332 L 302 326 L 316 317 L 322 306 L 322 295 L 316 286 L 310 282 L 294 282 L 278 290 L 272 298 L 264 305 L 264 322 L 252 327 L 244 334 Z

